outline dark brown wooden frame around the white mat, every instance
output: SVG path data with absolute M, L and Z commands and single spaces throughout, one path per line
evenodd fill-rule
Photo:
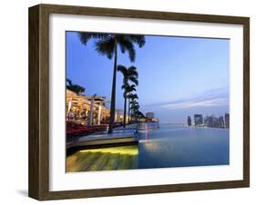
M 49 190 L 49 15 L 99 15 L 243 26 L 243 180 L 214 181 L 90 190 Z M 29 8 L 29 183 L 36 200 L 60 200 L 170 191 L 214 190 L 250 186 L 250 19 L 70 5 Z

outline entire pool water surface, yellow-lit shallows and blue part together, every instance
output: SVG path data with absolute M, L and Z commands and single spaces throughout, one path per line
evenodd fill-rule
M 230 163 L 229 130 L 140 124 L 138 146 L 77 151 L 67 171 L 129 170 Z

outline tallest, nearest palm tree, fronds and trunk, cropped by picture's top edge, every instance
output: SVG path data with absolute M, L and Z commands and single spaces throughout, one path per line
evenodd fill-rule
M 138 47 L 142 47 L 145 44 L 145 36 L 136 34 L 99 34 L 81 32 L 79 33 L 79 38 L 81 43 L 85 45 L 90 39 L 95 39 L 95 47 L 98 54 L 107 55 L 109 59 L 112 59 L 114 56 L 114 71 L 108 129 L 108 133 L 112 133 L 115 123 L 118 47 L 120 48 L 121 53 L 124 54 L 125 52 L 128 52 L 130 61 L 134 62 L 136 57 L 134 44 L 138 44 Z

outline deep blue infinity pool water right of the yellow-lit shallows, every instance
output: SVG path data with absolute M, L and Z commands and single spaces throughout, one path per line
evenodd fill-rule
M 230 163 L 228 129 L 159 124 L 138 132 L 138 168 Z

